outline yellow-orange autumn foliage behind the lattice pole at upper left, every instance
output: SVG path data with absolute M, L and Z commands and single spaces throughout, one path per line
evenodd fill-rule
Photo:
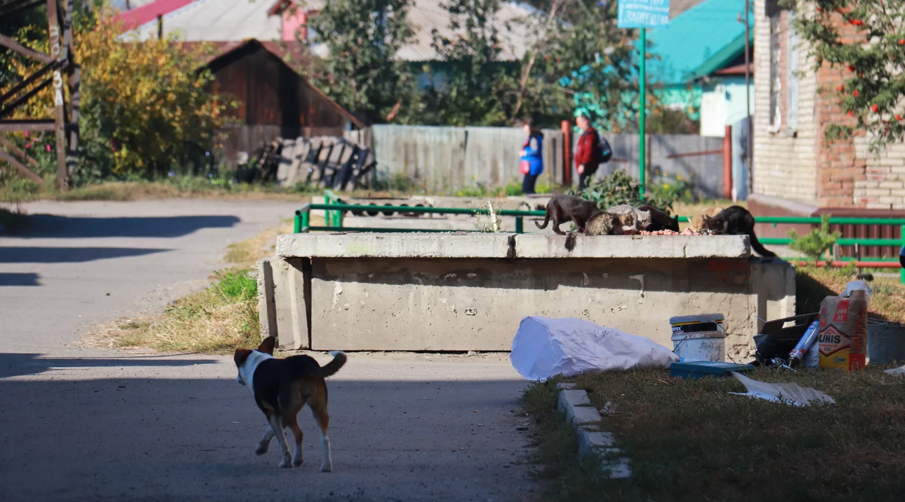
M 189 49 L 172 39 L 120 41 L 119 26 L 98 23 L 97 11 L 76 14 L 75 59 L 82 67 L 77 178 L 85 171 L 94 177 L 153 176 L 204 162 L 214 147 L 214 131 L 224 125 L 227 105 L 214 98 L 213 75 L 201 69 L 210 48 Z M 47 50 L 46 26 L 25 26 L 19 33 L 28 35 L 36 50 Z M 17 57 L 5 63 L 8 83 L 0 93 L 41 66 Z M 52 88 L 45 88 L 12 117 L 52 116 Z M 53 135 L 17 133 L 13 139 L 26 150 L 40 144 L 52 151 L 54 144 Z M 50 154 L 35 156 L 52 164 Z

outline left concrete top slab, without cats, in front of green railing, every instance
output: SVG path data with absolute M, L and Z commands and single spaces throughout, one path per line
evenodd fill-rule
M 515 234 L 338 233 L 289 234 L 276 256 L 342 258 L 508 258 Z

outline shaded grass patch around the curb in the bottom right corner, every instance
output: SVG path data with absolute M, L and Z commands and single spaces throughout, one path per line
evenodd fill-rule
M 556 500 L 899 500 L 905 490 L 905 379 L 862 372 L 759 368 L 767 382 L 823 390 L 835 405 L 798 408 L 729 392 L 733 378 L 681 380 L 665 370 L 576 377 L 592 404 L 615 414 L 601 426 L 631 459 L 633 478 L 603 479 L 576 460 L 574 435 L 554 411 L 551 383 L 531 386 L 538 477 Z

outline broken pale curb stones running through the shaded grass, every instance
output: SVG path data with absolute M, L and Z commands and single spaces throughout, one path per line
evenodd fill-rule
M 557 407 L 566 414 L 566 420 L 575 425 L 578 434 L 578 455 L 596 453 L 601 457 L 600 467 L 609 472 L 610 479 L 626 479 L 632 476 L 632 468 L 627 457 L 620 457 L 622 451 L 615 447 L 613 432 L 600 431 L 601 417 L 591 405 L 587 391 L 577 390 L 575 384 L 557 384 L 559 400 Z

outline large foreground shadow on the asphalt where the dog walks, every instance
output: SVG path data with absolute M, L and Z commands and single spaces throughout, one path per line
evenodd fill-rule
M 305 463 L 278 469 L 276 442 L 254 454 L 267 423 L 233 370 L 182 372 L 0 380 L 4 500 L 521 502 L 535 488 L 513 413 L 524 381 L 331 379 L 335 472 L 323 474 L 308 406 Z

